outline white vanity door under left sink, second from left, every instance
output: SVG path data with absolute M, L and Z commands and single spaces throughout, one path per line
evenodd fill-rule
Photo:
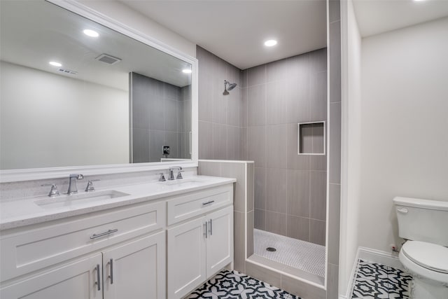
M 104 299 L 165 299 L 165 231 L 103 251 Z

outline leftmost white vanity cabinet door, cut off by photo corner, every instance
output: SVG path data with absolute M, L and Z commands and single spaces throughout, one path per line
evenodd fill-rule
M 0 298 L 101 299 L 102 287 L 102 254 L 98 253 L 1 288 Z

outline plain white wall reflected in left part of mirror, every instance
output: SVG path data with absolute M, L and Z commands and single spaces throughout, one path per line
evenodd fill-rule
M 129 162 L 127 90 L 1 62 L 1 169 Z

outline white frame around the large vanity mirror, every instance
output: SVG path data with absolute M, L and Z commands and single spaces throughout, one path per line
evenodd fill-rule
M 29 169 L 7 169 L 0 170 L 0 183 L 7 183 L 13 181 L 32 181 L 38 179 L 53 179 L 63 178 L 69 176 L 71 173 L 80 172 L 84 175 L 98 175 L 98 174 L 118 174 L 125 172 L 146 172 L 155 171 L 159 169 L 168 169 L 174 165 L 186 167 L 198 166 L 198 62 L 195 57 L 187 55 L 186 53 L 177 50 L 171 46 L 168 46 L 157 39 L 153 39 L 151 36 L 143 34 L 132 27 L 129 27 L 113 18 L 109 18 L 98 11 L 94 11 L 92 8 L 80 4 L 74 0 L 45 0 L 64 8 L 72 13 L 76 13 L 84 18 L 99 23 L 105 27 L 115 30 L 121 34 L 125 34 L 136 41 L 151 46 L 164 53 L 172 55 L 180 60 L 191 64 L 191 160 L 189 161 L 173 161 L 173 162 L 147 162 L 136 164 L 111 164 L 111 165 L 85 165 L 85 166 L 71 166 L 71 167 L 45 167 L 45 168 L 29 168 Z

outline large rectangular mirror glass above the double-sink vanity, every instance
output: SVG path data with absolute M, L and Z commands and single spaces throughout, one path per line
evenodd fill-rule
M 0 11 L 2 171 L 197 157 L 195 58 L 48 1 Z

